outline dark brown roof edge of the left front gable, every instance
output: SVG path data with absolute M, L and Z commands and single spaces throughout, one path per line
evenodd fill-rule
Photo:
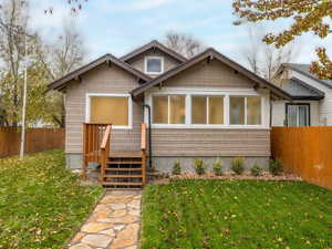
M 86 73 L 87 71 L 103 64 L 103 63 L 108 63 L 110 65 L 112 63 L 114 63 L 115 65 L 122 68 L 123 70 L 127 71 L 128 73 L 137 76 L 139 80 L 143 80 L 144 82 L 147 82 L 151 80 L 151 77 L 144 73 L 142 73 L 141 71 L 134 69 L 133 66 L 131 66 L 129 64 L 118 60 L 117 58 L 113 56 L 112 54 L 105 54 L 94 61 L 92 61 L 91 63 L 83 65 L 82 68 L 64 75 L 63 77 L 52 82 L 51 84 L 48 85 L 49 90 L 62 90 L 65 87 L 65 85 L 75 79 L 80 79 L 80 76 L 84 73 Z

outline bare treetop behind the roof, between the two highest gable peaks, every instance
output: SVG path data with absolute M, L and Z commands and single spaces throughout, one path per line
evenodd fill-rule
M 191 34 L 175 31 L 166 33 L 165 44 L 187 59 L 195 56 L 205 48 L 203 42 L 194 38 Z

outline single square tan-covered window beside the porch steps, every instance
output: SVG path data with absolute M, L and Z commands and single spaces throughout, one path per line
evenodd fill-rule
M 90 122 L 112 124 L 114 126 L 129 126 L 128 96 L 97 96 L 90 97 Z

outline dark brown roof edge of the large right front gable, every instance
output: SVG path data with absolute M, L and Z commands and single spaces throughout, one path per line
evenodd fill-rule
M 235 72 L 240 73 L 249 77 L 252 83 L 255 84 L 255 87 L 267 87 L 276 96 L 290 100 L 290 95 L 286 93 L 283 90 L 279 89 L 278 86 L 271 84 L 270 82 L 261 79 L 260 76 L 256 75 L 255 73 L 248 71 L 243 66 L 239 65 L 238 63 L 231 61 L 230 59 L 226 58 L 215 49 L 210 48 L 204 51 L 203 53 L 191 58 L 187 62 L 180 64 L 179 66 L 159 75 L 158 77 L 155 77 L 154 80 L 151 80 L 149 82 L 146 82 L 145 84 L 138 86 L 137 89 L 132 91 L 132 94 L 134 97 L 137 97 L 145 91 L 149 90 L 151 87 L 158 85 L 166 81 L 167 79 L 183 72 L 186 69 L 191 68 L 193 65 L 204 61 L 204 60 L 219 60 L 220 62 L 225 63 L 226 65 L 230 66 L 235 70 Z

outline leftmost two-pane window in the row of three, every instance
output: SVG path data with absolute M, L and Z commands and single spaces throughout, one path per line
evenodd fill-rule
M 186 96 L 159 95 L 153 96 L 154 124 L 185 124 Z

